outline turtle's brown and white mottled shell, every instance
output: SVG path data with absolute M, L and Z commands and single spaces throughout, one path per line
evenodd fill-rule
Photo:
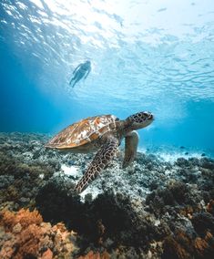
M 82 119 L 60 131 L 47 144 L 47 148 L 72 149 L 97 140 L 105 133 L 116 129 L 117 117 L 102 115 Z

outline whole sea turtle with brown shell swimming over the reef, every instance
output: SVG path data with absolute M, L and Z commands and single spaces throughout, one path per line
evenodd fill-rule
M 76 184 L 75 190 L 83 192 L 90 181 L 107 167 L 125 138 L 123 168 L 134 161 L 138 149 L 138 133 L 135 129 L 147 127 L 154 120 L 148 111 L 138 112 L 120 120 L 114 115 L 101 115 L 82 119 L 60 131 L 46 144 L 46 148 L 71 152 L 92 152 L 97 150 L 87 171 Z

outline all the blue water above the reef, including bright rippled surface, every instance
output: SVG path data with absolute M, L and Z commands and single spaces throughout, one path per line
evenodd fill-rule
M 0 131 L 149 110 L 141 148 L 214 150 L 213 0 L 1 0 L 0 61 Z

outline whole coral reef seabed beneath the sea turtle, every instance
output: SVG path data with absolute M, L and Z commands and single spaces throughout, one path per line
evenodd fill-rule
M 93 154 L 0 133 L 0 258 L 213 258 L 214 161 L 123 150 L 81 195 Z M 2 257 L 1 257 L 2 256 Z

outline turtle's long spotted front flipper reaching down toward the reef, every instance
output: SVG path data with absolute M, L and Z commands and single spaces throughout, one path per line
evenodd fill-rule
M 84 176 L 77 182 L 75 190 L 80 193 L 83 192 L 90 181 L 95 180 L 97 175 L 107 167 L 107 164 L 113 159 L 118 147 L 118 140 L 115 138 L 109 138 L 107 143 L 97 151 L 97 154 L 93 161 L 87 168 Z

